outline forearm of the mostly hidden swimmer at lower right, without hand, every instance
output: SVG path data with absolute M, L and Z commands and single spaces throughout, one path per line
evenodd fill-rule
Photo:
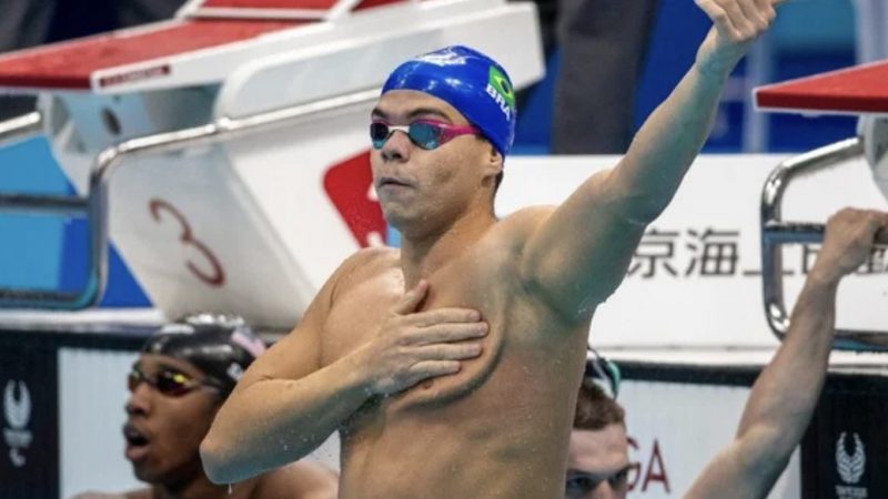
M 839 277 L 821 267 L 808 276 L 790 317 L 789 330 L 770 365 L 753 387 L 737 437 L 755 429 L 770 455 L 788 457 L 804 435 L 826 378 Z

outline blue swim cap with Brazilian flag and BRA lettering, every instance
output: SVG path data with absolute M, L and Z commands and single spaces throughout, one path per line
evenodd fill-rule
M 503 157 L 515 139 L 515 91 L 496 61 L 467 47 L 446 47 L 398 65 L 382 93 L 416 90 L 453 105 Z

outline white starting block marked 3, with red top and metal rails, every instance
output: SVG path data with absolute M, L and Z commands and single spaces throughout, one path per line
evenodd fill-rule
M 168 317 L 292 327 L 343 258 L 385 240 L 366 131 L 385 77 L 456 43 L 516 88 L 542 77 L 533 7 L 504 0 L 193 1 L 169 22 L 0 57 L 0 86 L 40 95 L 0 142 L 42 131 L 82 196 L 7 194 L 0 210 L 91 227 L 84 289 L 2 289 L 0 306 L 97 303 L 110 232 Z

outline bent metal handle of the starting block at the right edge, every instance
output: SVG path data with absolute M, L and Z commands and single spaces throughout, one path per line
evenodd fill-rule
M 861 138 L 846 139 L 784 161 L 765 182 L 760 205 L 763 297 L 768 326 L 781 342 L 789 330 L 789 314 L 784 299 L 780 246 L 793 243 L 820 243 L 825 231 L 824 224 L 784 221 L 781 218 L 784 194 L 793 180 L 837 166 L 862 154 Z M 834 348 L 888 352 L 888 334 L 837 328 Z

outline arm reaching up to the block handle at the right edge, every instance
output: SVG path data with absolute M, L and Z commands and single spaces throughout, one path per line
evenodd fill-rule
M 736 439 L 706 467 L 686 499 L 767 497 L 820 397 L 839 281 L 866 261 L 876 232 L 885 227 L 888 213 L 844 210 L 829 221 L 789 332 L 753 387 Z

